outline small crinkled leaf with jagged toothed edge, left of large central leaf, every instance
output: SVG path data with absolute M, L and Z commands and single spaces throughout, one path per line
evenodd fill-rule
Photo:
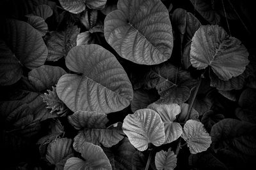
M 46 108 L 51 109 L 51 113 L 61 116 L 67 115 L 68 108 L 57 96 L 56 87 L 52 87 L 52 90 L 47 90 L 47 92 L 48 94 L 44 93 L 44 96 L 41 96 L 44 103 L 47 104 Z

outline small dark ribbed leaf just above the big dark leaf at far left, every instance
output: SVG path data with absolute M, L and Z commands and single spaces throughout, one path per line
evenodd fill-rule
M 35 15 L 26 15 L 26 17 L 28 17 L 28 24 L 34 27 L 41 36 L 45 36 L 48 32 L 48 25 L 44 21 L 44 18 Z

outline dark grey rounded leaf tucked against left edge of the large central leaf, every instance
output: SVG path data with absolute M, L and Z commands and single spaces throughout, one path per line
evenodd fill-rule
M 51 89 L 66 71 L 58 66 L 40 66 L 28 73 L 28 80 L 39 92 Z

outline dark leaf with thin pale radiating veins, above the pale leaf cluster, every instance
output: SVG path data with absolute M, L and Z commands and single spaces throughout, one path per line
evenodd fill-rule
M 157 103 L 184 103 L 190 96 L 190 88 L 196 80 L 188 71 L 164 63 L 153 67 L 145 78 L 147 89 L 156 88 L 161 98 Z

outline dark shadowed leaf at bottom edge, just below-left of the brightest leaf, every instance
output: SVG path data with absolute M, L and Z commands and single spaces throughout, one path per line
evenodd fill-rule
M 108 156 L 113 170 L 132 169 L 132 155 L 136 152 L 136 149 L 131 145 L 127 137 L 122 139 L 118 145 L 111 148 L 103 148 L 103 150 Z

